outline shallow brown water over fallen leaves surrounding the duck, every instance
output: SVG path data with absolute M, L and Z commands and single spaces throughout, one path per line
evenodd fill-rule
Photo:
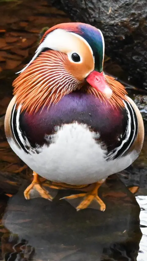
M 12 98 L 11 84 L 15 72 L 36 49 L 41 28 L 70 20 L 46 1 L 0 5 L 4 13 L 0 22 L 6 30 L 0 31 L 0 260 L 146 261 L 146 124 L 138 160 L 119 178 L 112 175 L 100 188 L 105 212 L 90 208 L 76 212 L 71 202 L 58 200 L 66 191 L 59 191 L 52 203 L 42 198 L 25 200 L 23 192 L 31 182 L 32 171 L 10 149 L 3 127 Z M 119 67 L 117 72 L 113 63 L 110 67 L 111 73 L 125 79 Z M 126 186 L 139 186 L 136 199 Z

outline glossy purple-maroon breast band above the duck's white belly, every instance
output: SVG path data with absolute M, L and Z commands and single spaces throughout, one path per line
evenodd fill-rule
M 75 121 L 88 125 L 91 131 L 99 132 L 101 142 L 109 151 L 117 145 L 118 138 L 125 132 L 127 115 L 125 109 L 113 108 L 93 95 L 71 93 L 48 109 L 40 108 L 31 115 L 21 113 L 20 128 L 30 144 L 35 147 L 36 144 L 46 144 L 45 134 L 54 134 L 56 126 Z

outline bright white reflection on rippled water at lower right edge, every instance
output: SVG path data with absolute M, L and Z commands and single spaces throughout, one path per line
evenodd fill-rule
M 137 261 L 146 261 L 147 259 L 147 196 L 136 196 L 136 200 L 141 208 L 140 229 L 142 232 L 142 238 L 139 244 Z

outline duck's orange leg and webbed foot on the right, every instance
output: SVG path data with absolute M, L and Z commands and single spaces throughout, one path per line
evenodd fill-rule
M 100 197 L 97 195 L 98 189 L 100 188 L 102 183 L 104 183 L 104 181 L 105 181 L 105 179 L 103 179 L 99 182 L 96 182 L 94 188 L 90 192 L 75 194 L 75 195 L 63 197 L 61 199 L 76 199 L 76 198 L 79 198 L 79 197 L 84 197 L 84 199 L 81 201 L 81 203 L 76 207 L 77 211 L 84 209 L 84 208 L 87 208 L 93 200 L 95 200 L 100 205 L 101 211 L 105 211 L 106 205 L 100 199 Z

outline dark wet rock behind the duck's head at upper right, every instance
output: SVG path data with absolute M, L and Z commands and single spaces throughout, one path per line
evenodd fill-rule
M 104 34 L 106 54 L 121 65 L 131 84 L 147 87 L 146 0 L 48 0 L 72 21 L 92 24 Z

